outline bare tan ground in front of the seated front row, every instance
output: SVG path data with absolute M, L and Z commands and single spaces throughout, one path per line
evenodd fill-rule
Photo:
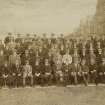
M 1 89 L 0 105 L 105 105 L 105 86 Z

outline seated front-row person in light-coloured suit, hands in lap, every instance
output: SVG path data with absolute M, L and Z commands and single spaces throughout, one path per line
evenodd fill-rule
M 32 75 L 32 66 L 29 64 L 29 61 L 26 61 L 26 64 L 23 66 L 23 86 L 26 85 L 26 79 L 31 79 L 31 86 L 33 85 L 33 75 Z

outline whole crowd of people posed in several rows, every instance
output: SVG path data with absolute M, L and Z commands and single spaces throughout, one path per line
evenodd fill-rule
M 105 39 L 76 40 L 54 34 L 0 41 L 0 87 L 105 83 Z

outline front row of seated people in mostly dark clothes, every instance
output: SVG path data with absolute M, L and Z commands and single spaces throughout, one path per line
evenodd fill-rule
M 20 65 L 17 61 L 15 65 L 9 66 L 8 62 L 0 67 L 0 87 L 20 87 L 34 85 L 70 85 L 88 83 L 105 83 L 105 59 L 100 65 L 95 65 L 91 60 L 89 66 L 86 60 L 81 63 L 72 63 L 69 65 L 63 64 L 62 67 L 57 67 L 55 64 L 50 64 L 46 59 L 44 63 L 36 60 L 32 67 L 29 61 L 25 65 Z

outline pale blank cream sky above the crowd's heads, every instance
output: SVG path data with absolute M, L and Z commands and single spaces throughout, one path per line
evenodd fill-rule
M 0 0 L 0 35 L 71 33 L 94 15 L 97 0 Z

